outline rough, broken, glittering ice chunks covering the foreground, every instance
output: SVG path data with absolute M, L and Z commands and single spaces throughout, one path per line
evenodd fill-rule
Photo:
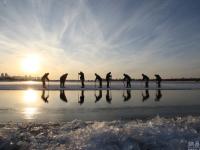
M 200 141 L 200 117 L 131 121 L 0 124 L 0 149 L 187 149 Z

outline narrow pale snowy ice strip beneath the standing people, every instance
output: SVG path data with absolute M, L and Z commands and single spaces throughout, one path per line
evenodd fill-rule
M 40 82 L 1 82 L 0 90 L 26 90 L 26 89 L 35 89 L 43 90 L 42 84 Z M 86 82 L 85 88 L 81 88 L 80 83 L 78 82 L 66 82 L 65 88 L 60 88 L 59 82 L 50 82 L 46 88 L 47 90 L 107 90 L 105 83 L 103 83 L 102 88 L 98 88 L 98 84 L 95 87 L 94 82 Z M 123 82 L 114 81 L 111 83 L 111 87 L 108 90 L 124 90 L 127 89 L 124 87 Z M 144 87 L 144 82 L 135 81 L 132 82 L 132 87 L 128 88 L 131 90 L 144 90 L 147 89 Z M 149 90 L 194 90 L 200 89 L 200 82 L 172 82 L 172 81 L 163 81 L 161 88 L 158 88 L 155 82 L 150 82 Z

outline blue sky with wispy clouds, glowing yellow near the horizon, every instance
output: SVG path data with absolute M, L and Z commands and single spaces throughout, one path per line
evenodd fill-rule
M 79 71 L 200 77 L 200 1 L 0 0 L 0 72 Z

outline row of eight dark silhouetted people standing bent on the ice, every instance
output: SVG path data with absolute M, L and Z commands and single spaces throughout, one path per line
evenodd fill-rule
M 41 78 L 43 88 L 46 88 L 46 81 L 50 81 L 48 76 L 49 76 L 49 73 L 45 73 Z M 65 88 L 65 81 L 67 79 L 67 76 L 68 76 L 68 73 L 65 73 L 60 77 L 60 88 Z M 82 71 L 80 71 L 78 73 L 78 78 L 81 81 L 81 88 L 84 88 L 85 87 L 85 75 Z M 105 80 L 107 83 L 107 88 L 110 88 L 110 83 L 112 81 L 111 72 L 106 74 Z M 145 87 L 148 88 L 149 87 L 149 77 L 145 74 L 142 74 L 142 80 L 145 81 Z M 155 80 L 156 80 L 157 86 L 160 88 L 161 81 L 162 81 L 162 78 L 160 77 L 160 75 L 155 74 Z M 95 88 L 96 88 L 97 81 L 99 82 L 99 88 L 102 88 L 103 78 L 100 75 L 98 75 L 97 73 L 95 73 Z M 123 74 L 123 83 L 126 82 L 126 85 L 124 83 L 124 87 L 131 88 L 131 81 L 132 81 L 132 78 L 128 74 L 124 73 Z

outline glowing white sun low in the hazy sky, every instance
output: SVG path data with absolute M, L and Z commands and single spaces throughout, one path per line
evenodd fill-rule
M 26 56 L 22 62 L 22 70 L 26 73 L 36 73 L 40 69 L 40 59 L 37 55 Z

